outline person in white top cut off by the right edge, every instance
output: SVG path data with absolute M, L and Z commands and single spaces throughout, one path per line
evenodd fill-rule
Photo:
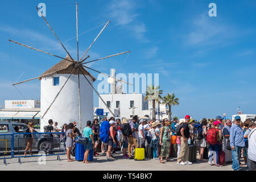
M 256 123 L 249 124 L 249 130 L 246 131 L 245 136 L 248 138 L 248 154 L 247 167 L 250 171 L 256 171 Z

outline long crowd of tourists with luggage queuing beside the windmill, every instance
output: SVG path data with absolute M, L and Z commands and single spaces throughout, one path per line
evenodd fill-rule
M 75 137 L 81 136 L 76 124 L 65 124 L 61 130 L 65 132 L 61 137 L 66 141 L 68 162 L 73 161 L 70 154 Z M 51 130 L 59 131 L 56 127 Z M 106 155 L 107 160 L 115 160 L 116 156 L 112 154 L 118 150 L 121 150 L 122 158 L 134 159 L 135 149 L 144 148 L 144 158 L 156 159 L 164 164 L 174 157 L 178 165 L 191 165 L 196 162 L 199 150 L 198 159 L 208 161 L 210 166 L 232 164 L 233 171 L 240 171 L 242 166 L 255 170 L 255 130 L 255 120 L 242 122 L 239 115 L 233 121 L 218 115 L 215 119 L 204 118 L 200 122 L 189 115 L 185 119 L 174 117 L 173 121 L 163 119 L 162 122 L 139 119 L 137 115 L 122 121 L 114 117 L 101 121 L 96 118 L 93 122 L 87 121 L 82 132 L 84 138 L 88 138 L 84 146 L 84 163 L 91 163 L 88 160 L 90 150 L 93 150 L 94 156 Z

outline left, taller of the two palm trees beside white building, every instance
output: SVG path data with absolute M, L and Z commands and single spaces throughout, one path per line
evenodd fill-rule
M 153 113 L 152 113 L 152 119 L 155 119 L 155 101 L 160 101 L 160 99 L 162 100 L 162 94 L 163 94 L 163 90 L 159 90 L 160 86 L 154 86 L 154 85 L 150 85 L 147 86 L 147 91 L 146 91 L 146 96 L 144 98 L 144 100 L 152 100 L 152 109 L 153 109 Z

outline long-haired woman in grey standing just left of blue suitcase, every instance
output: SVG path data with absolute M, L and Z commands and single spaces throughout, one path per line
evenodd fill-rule
M 66 141 L 66 147 L 67 147 L 67 157 L 68 157 L 68 162 L 73 162 L 74 160 L 71 159 L 71 149 L 73 147 L 73 137 L 76 137 L 77 133 L 74 134 L 74 125 L 73 123 L 69 123 L 66 129 L 65 136 L 67 138 Z

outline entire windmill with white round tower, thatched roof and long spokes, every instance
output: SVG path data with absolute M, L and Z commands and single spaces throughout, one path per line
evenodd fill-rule
M 40 13 L 38 7 L 36 7 L 36 9 Z M 97 37 L 94 39 L 92 44 L 90 44 L 89 48 L 85 51 L 84 55 L 81 58 L 79 58 L 79 34 L 77 12 L 78 10 L 76 3 L 77 61 L 72 58 L 72 56 L 63 46 L 55 32 L 49 26 L 49 23 L 47 22 L 46 18 L 44 18 L 44 16 L 41 13 L 40 15 L 46 22 L 47 26 L 51 29 L 56 39 L 64 48 L 65 52 L 67 52 L 68 55 L 65 58 L 53 55 L 52 53 L 42 51 L 40 49 L 36 49 L 34 47 L 27 46 L 22 43 L 15 42 L 13 40 L 9 40 L 10 42 L 13 42 L 15 44 L 19 44 L 21 46 L 31 48 L 43 53 L 47 53 L 48 55 L 62 59 L 59 63 L 54 65 L 48 71 L 44 72 L 42 75 L 13 84 L 13 86 L 15 86 L 18 84 L 22 84 L 23 82 L 35 80 L 37 78 L 41 80 L 41 131 L 43 130 L 43 126 L 47 125 L 47 121 L 50 118 L 53 119 L 53 121 L 59 122 L 60 125 L 72 121 L 79 121 L 79 129 L 82 130 L 82 128 L 86 126 L 86 121 L 93 119 L 93 90 L 102 100 L 100 94 L 93 87 L 93 81 L 95 81 L 95 78 L 88 71 L 86 71 L 86 69 L 91 69 L 98 73 L 101 72 L 86 67 L 85 64 L 130 52 L 121 52 L 115 55 L 101 57 L 100 59 L 85 62 L 85 60 L 88 59 L 89 55 L 85 58 L 84 56 L 88 53 L 90 47 L 92 47 L 94 42 L 96 42 L 102 31 L 106 28 L 106 26 L 108 26 L 110 22 L 109 20 L 108 23 L 106 23 L 104 28 L 102 28 L 100 33 L 97 35 Z M 102 74 L 109 76 L 105 73 Z M 80 76 L 82 77 L 80 78 Z M 102 102 L 104 102 L 104 100 L 102 100 Z M 105 102 L 104 104 L 106 105 Z M 109 109 L 108 105 L 106 105 L 106 107 Z M 109 111 L 114 116 L 113 112 L 110 109 Z

